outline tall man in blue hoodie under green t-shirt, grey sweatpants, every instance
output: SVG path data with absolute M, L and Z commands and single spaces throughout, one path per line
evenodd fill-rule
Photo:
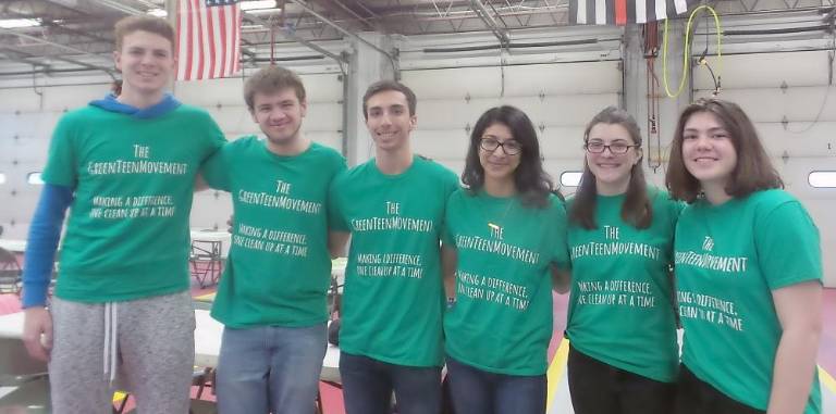
M 139 412 L 185 413 L 195 328 L 188 216 L 198 166 L 223 135 L 206 111 L 164 93 L 171 25 L 132 16 L 115 38 L 121 95 L 69 112 L 53 133 L 26 252 L 24 342 L 49 360 L 53 413 L 110 413 L 116 371 Z

